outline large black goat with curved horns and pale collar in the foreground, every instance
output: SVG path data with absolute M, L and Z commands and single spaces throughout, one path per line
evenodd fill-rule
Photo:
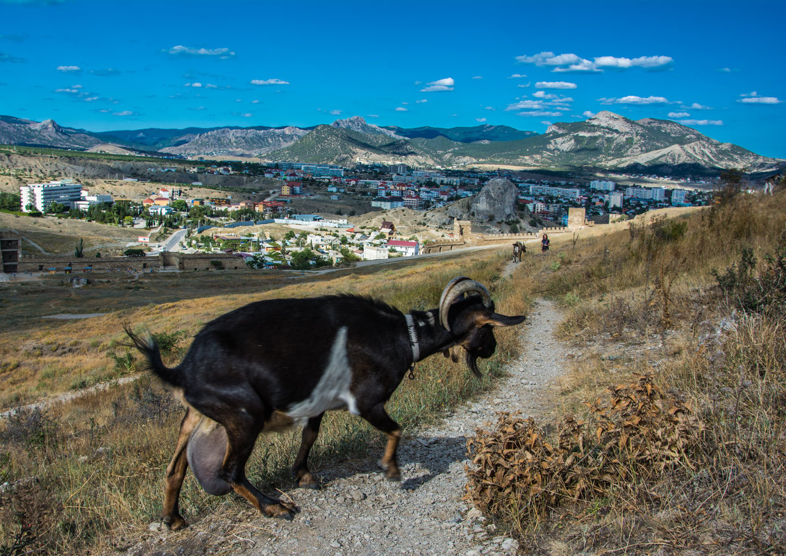
M 175 368 L 163 364 L 155 341 L 126 325 L 149 367 L 174 386 L 186 408 L 167 467 L 163 521 L 171 529 L 185 525 L 178 497 L 189 464 L 207 492 L 233 489 L 261 513 L 292 519 L 296 507 L 248 482 L 246 462 L 259 433 L 302 425 L 292 474 L 299 486 L 316 488 L 308 454 L 322 415 L 333 409 L 348 409 L 387 434 L 380 466 L 389 479 L 399 479 L 401 427 L 385 404 L 410 366 L 461 346 L 479 376 L 477 358 L 491 357 L 497 347 L 492 327 L 524 319 L 494 313 L 487 289 L 461 276 L 445 288 L 439 309 L 408 315 L 351 295 L 251 303 L 206 324 Z

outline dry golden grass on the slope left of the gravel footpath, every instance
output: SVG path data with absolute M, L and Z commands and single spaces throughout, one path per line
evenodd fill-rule
M 17 325 L 24 331 L 3 334 L 19 342 L 17 345 L 30 342 L 31 347 L 24 361 L 21 353 L 6 348 L 3 360 L 11 360 L 11 355 L 18 362 L 4 376 L 17 376 L 19 371 L 18 375 L 26 377 L 24 391 L 31 396 L 40 381 L 48 381 L 47 389 L 57 390 L 57 385 L 90 376 L 89 369 L 94 369 L 97 376 L 134 372 L 139 363 L 137 355 L 113 347 L 113 342 L 122 337 L 123 321 L 144 324 L 153 333 L 164 335 L 169 347 L 165 360 L 172 364 L 202 324 L 263 298 L 351 292 L 382 298 L 401 309 L 432 308 L 438 305 L 448 280 L 466 275 L 487 284 L 501 312 L 526 313 L 528 300 L 518 293 L 518 278 L 500 278 L 506 262 L 507 251 L 486 252 L 472 258 L 397 264 L 395 269 L 377 268 L 366 274 L 349 270 L 306 282 L 278 278 L 268 279 L 266 284 L 252 273 L 236 274 L 232 283 L 212 275 L 218 280 L 212 287 L 208 286 L 208 276 L 195 276 L 196 283 L 181 284 L 180 289 L 169 281 L 151 281 L 146 283 L 149 291 L 153 291 L 153 284 L 167 287 L 166 292 L 158 294 L 161 299 L 168 294 L 171 301 L 140 302 L 124 309 L 116 305 L 124 296 L 112 302 L 113 290 L 107 287 L 95 300 L 113 309 L 107 316 L 53 323 L 19 318 Z M 246 279 L 250 283 L 243 284 Z M 226 294 L 232 290 L 231 285 L 237 286 L 236 291 Z M 205 296 L 209 291 L 216 294 Z M 31 311 L 35 310 L 33 305 L 29 306 Z M 58 308 L 60 311 L 75 312 L 66 307 Z M 75 331 L 81 339 L 72 346 Z M 443 357 L 417 364 L 417 379 L 405 381 L 388 404 L 391 415 L 405 430 L 411 430 L 417 423 L 449 411 L 457 401 L 486 389 L 505 361 L 516 353 L 515 334 L 508 330 L 497 334 L 498 352 L 483 363 L 487 375 L 482 381 L 474 379 L 461 364 Z M 9 345 L 13 344 L 4 343 Z M 66 354 L 64 359 L 57 359 L 61 363 L 56 366 L 53 351 L 68 347 L 75 349 L 73 357 L 69 359 Z M 10 485 L 0 492 L 0 551 L 86 554 L 127 547 L 125 539 L 138 538 L 150 521 L 158 519 L 163 470 L 171 458 L 181 416 L 178 404 L 145 376 L 133 384 L 88 393 L 44 412 L 20 412 L 7 419 L 0 425 L 0 482 Z M 249 478 L 267 492 L 289 488 L 288 470 L 298 444 L 296 431 L 261 439 L 248 465 Z M 319 472 L 327 462 L 360 457 L 369 448 L 381 450 L 382 445 L 382 435 L 361 419 L 333 413 L 323 421 L 311 461 Z M 244 502 L 208 496 L 190 475 L 185 481 L 181 511 L 189 521 L 199 521 L 210 512 L 238 504 Z

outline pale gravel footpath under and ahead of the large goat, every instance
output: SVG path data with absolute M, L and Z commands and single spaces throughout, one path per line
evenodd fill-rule
M 325 482 L 321 490 L 295 489 L 285 495 L 301 510 L 294 521 L 259 518 L 248 507 L 229 522 L 205 518 L 182 533 L 154 523 L 153 537 L 128 553 L 515 554 L 515 540 L 496 532 L 478 510 L 461 501 L 466 437 L 483 422 L 496 421 L 497 412 L 542 414 L 543 393 L 564 369 L 565 349 L 553 337 L 561 319 L 553 303 L 538 300 L 521 329 L 524 354 L 494 390 L 436 426 L 405 431 L 399 448 L 401 483 L 384 480 L 373 458 L 353 468 L 336 463 L 319 470 Z

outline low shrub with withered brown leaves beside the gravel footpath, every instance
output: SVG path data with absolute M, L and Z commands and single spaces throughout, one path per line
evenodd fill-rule
M 587 405 L 592 420 L 565 417 L 556 442 L 519 413 L 478 430 L 467 441 L 475 468 L 467 468 L 465 499 L 488 514 L 515 511 L 516 521 L 537 522 L 563 501 L 634 492 L 639 481 L 674 466 L 693 469 L 703 423 L 652 375 L 636 375 Z

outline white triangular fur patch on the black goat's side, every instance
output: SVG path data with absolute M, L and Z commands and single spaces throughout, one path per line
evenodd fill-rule
M 286 414 L 296 422 L 304 422 L 331 409 L 347 408 L 358 415 L 358 404 L 349 390 L 352 370 L 347 357 L 347 327 L 341 327 L 330 348 L 325 371 L 307 399 L 288 408 Z

